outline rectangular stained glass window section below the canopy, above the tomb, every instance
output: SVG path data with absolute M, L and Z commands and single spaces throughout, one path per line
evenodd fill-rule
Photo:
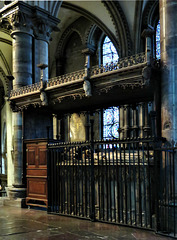
M 119 108 L 110 107 L 103 111 L 103 139 L 119 138 Z

